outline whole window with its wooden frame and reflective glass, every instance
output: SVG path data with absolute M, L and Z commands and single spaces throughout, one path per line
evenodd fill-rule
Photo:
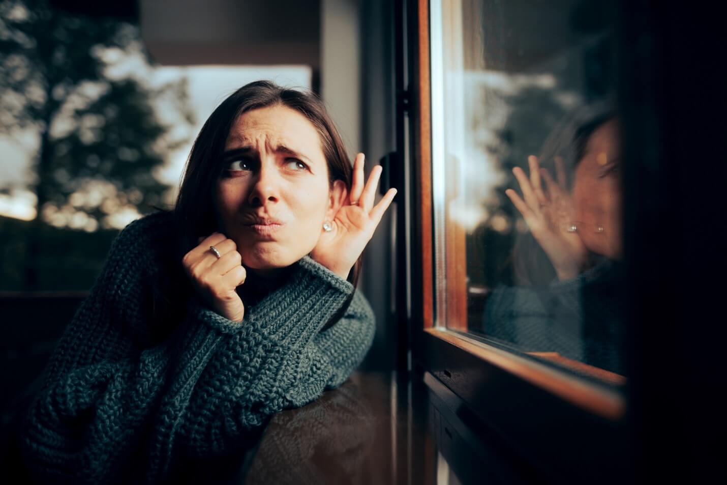
M 537 468 L 584 480 L 627 462 L 612 17 L 592 3 L 409 6 L 414 368 Z M 575 264 L 525 208 L 580 241 Z

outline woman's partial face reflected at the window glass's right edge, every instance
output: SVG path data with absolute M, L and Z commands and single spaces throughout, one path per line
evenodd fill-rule
M 610 259 L 620 259 L 622 251 L 620 159 L 618 125 L 611 120 L 588 139 L 573 187 L 576 224 L 583 244 Z

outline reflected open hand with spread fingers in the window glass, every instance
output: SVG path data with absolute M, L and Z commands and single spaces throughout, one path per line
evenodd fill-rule
M 513 168 L 513 174 L 523 192 L 521 198 L 513 189 L 505 194 L 515 205 L 530 228 L 543 251 L 555 267 L 558 278 L 566 280 L 581 272 L 587 261 L 587 250 L 576 228 L 573 227 L 573 205 L 565 192 L 565 170 L 563 160 L 555 159 L 558 182 L 553 180 L 545 168 L 540 168 L 537 157 L 528 157 L 530 178 L 520 167 Z M 547 185 L 543 191 L 541 176 Z

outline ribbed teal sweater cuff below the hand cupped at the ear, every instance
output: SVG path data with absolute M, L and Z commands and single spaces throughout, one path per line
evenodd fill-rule
M 257 326 L 279 344 L 305 347 L 353 291 L 351 283 L 305 256 L 282 288 L 249 309 L 243 326 Z

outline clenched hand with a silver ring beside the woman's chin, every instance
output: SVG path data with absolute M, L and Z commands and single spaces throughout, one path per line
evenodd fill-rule
M 217 254 L 210 249 L 214 247 Z M 215 312 L 228 320 L 241 322 L 245 306 L 235 291 L 245 282 L 247 272 L 235 241 L 215 232 L 185 254 L 182 265 L 196 291 Z

